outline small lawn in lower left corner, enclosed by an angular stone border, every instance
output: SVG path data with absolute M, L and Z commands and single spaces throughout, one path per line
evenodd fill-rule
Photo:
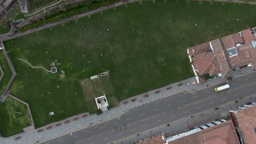
M 15 113 L 15 111 L 22 114 Z M 0 115 L 0 134 L 2 136 L 19 134 L 23 128 L 30 126 L 27 106 L 11 97 L 0 104 Z

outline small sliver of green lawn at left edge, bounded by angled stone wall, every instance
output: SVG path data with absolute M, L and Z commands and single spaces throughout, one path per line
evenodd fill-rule
M 3 79 L 0 82 L 0 95 L 2 95 L 5 88 L 8 85 L 9 80 L 11 79 L 11 76 L 13 75 L 13 73 L 11 72 L 11 69 L 9 67 L 7 58 L 4 56 L 3 50 L 0 51 L 0 65 L 4 71 Z M 1 105 L 1 103 L 0 103 L 0 105 Z

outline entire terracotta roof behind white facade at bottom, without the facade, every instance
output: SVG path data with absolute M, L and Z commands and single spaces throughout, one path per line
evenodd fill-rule
M 168 144 L 240 144 L 235 127 L 231 120 L 197 133 L 168 142 Z

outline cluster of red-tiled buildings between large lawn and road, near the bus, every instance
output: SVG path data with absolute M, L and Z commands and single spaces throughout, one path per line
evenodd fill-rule
M 187 52 L 197 83 L 205 76 L 229 76 L 236 69 L 256 67 L 256 27 L 190 47 Z

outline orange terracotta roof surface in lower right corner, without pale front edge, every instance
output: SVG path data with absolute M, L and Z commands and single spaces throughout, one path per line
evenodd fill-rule
M 256 106 L 237 111 L 236 119 L 245 136 L 247 144 L 255 144 L 256 135 L 254 128 L 256 128 Z

